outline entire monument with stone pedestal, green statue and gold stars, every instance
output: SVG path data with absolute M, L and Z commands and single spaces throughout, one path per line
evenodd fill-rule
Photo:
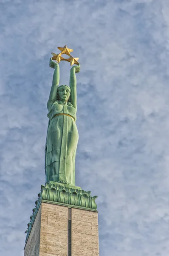
M 73 49 L 66 45 L 58 49 L 61 52 L 52 52 L 49 63 L 54 75 L 47 102 L 46 183 L 41 186 L 25 232 L 24 256 L 99 256 L 97 197 L 75 186 L 79 58 L 73 58 L 70 55 Z M 60 61 L 76 64 L 70 69 L 69 86 L 59 86 Z

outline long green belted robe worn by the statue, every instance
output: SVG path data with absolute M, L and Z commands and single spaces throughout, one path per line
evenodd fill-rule
M 45 146 L 46 182 L 65 181 L 75 185 L 75 156 L 79 139 L 76 108 L 55 101 L 48 106 L 48 132 Z

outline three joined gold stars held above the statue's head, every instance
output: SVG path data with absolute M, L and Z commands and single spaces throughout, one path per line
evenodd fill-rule
M 58 63 L 60 61 L 68 61 L 70 62 L 70 66 L 72 66 L 73 64 L 76 64 L 78 65 L 79 62 L 79 58 L 73 58 L 71 55 L 70 55 L 70 52 L 73 52 L 73 49 L 69 49 L 66 45 L 64 47 L 57 47 L 61 52 L 59 54 L 56 54 L 54 52 L 52 52 L 52 59 L 57 61 Z M 63 58 L 62 57 L 62 54 L 66 54 L 69 56 L 69 58 Z

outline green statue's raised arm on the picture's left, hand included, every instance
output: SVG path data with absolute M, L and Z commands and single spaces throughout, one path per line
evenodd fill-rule
M 54 68 L 55 71 L 54 71 L 54 76 L 52 81 L 51 92 L 50 92 L 48 103 L 47 103 L 48 111 L 50 110 L 51 105 L 56 101 L 57 89 L 59 86 L 59 64 L 57 64 L 55 61 L 52 60 L 52 58 L 50 58 L 49 66 L 51 68 Z

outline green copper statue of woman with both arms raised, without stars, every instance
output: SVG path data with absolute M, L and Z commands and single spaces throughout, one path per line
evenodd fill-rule
M 76 127 L 76 75 L 80 64 L 70 70 L 70 87 L 59 86 L 59 64 L 50 58 L 54 68 L 51 92 L 47 103 L 48 132 L 45 146 L 46 182 L 57 181 L 75 186 L 75 156 L 79 139 Z

